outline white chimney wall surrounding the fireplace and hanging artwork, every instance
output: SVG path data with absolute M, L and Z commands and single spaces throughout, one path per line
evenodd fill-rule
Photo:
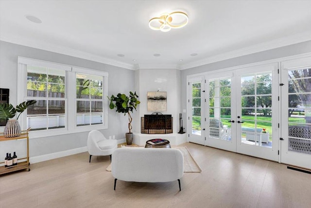
M 147 92 L 167 92 L 167 111 L 163 114 L 172 114 L 173 116 L 173 132 L 179 131 L 179 113 L 180 111 L 180 70 L 176 69 L 140 69 L 136 71 L 136 80 L 138 80 L 135 88 L 138 92 L 139 101 L 141 102 L 138 115 L 135 116 L 135 132 L 140 132 L 140 117 L 144 114 L 151 114 L 147 110 Z M 133 127 L 134 129 L 134 127 Z

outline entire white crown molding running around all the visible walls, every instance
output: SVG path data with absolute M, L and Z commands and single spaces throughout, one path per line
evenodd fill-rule
M 71 49 L 71 48 L 63 47 L 59 45 L 54 45 L 54 44 L 50 44 L 50 43 L 42 42 L 42 41 L 41 42 L 32 41 L 32 40 L 25 39 L 25 38 L 12 38 L 12 37 L 8 38 L 4 36 L 1 36 L 0 40 L 5 41 L 5 42 L 10 42 L 10 43 L 15 43 L 18 45 L 24 45 L 24 46 L 28 46 L 32 48 L 51 51 L 51 52 L 55 52 L 58 54 L 64 54 L 64 55 L 68 55 L 72 57 L 79 57 L 79 58 L 96 61 L 96 62 L 100 62 L 100 63 L 112 65 L 112 66 L 130 69 L 130 70 L 138 70 L 138 69 L 186 70 L 186 69 L 190 69 L 193 67 L 198 67 L 198 66 L 202 66 L 202 65 L 206 65 L 209 63 L 214 63 L 214 62 L 218 62 L 218 61 L 222 61 L 222 60 L 226 60 L 230 58 L 241 57 L 241 56 L 254 54 L 254 53 L 258 53 L 258 52 L 262 52 L 266 50 L 271 50 L 271 49 L 275 49 L 275 48 L 279 48 L 279 47 L 283 47 L 287 45 L 292 45 L 292 44 L 299 43 L 299 42 L 308 41 L 308 40 L 311 40 L 311 30 L 304 32 L 304 33 L 299 33 L 299 34 L 295 34 L 292 36 L 287 36 L 287 37 L 259 43 L 256 45 L 230 51 L 227 53 L 210 56 L 207 58 L 203 58 L 203 59 L 193 61 L 190 63 L 185 63 L 185 64 L 129 64 L 129 63 L 117 61 L 111 58 L 105 58 L 105 57 L 101 57 L 95 54 L 86 53 L 83 51 L 79 51 L 79 50 L 75 50 L 75 49 Z

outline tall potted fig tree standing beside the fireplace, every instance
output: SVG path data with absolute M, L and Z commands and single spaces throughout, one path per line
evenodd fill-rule
M 126 144 L 131 145 L 133 141 L 133 133 L 132 130 L 132 116 L 131 113 L 133 113 L 133 110 L 137 108 L 140 101 L 137 99 L 138 95 L 135 93 L 130 92 L 130 95 L 127 96 L 125 94 L 119 93 L 117 96 L 111 95 L 111 97 L 108 97 L 110 101 L 109 108 L 114 109 L 117 108 L 118 113 L 124 113 L 124 115 L 128 115 L 128 131 L 125 133 L 126 138 Z

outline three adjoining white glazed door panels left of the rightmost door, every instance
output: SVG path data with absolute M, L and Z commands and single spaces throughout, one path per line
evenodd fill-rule
M 189 80 L 190 142 L 278 161 L 277 63 Z

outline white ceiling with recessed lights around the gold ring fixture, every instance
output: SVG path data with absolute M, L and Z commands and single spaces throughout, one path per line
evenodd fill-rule
M 185 27 L 148 27 L 177 10 Z M 311 1 L 0 0 L 0 39 L 128 69 L 187 69 L 311 40 Z

